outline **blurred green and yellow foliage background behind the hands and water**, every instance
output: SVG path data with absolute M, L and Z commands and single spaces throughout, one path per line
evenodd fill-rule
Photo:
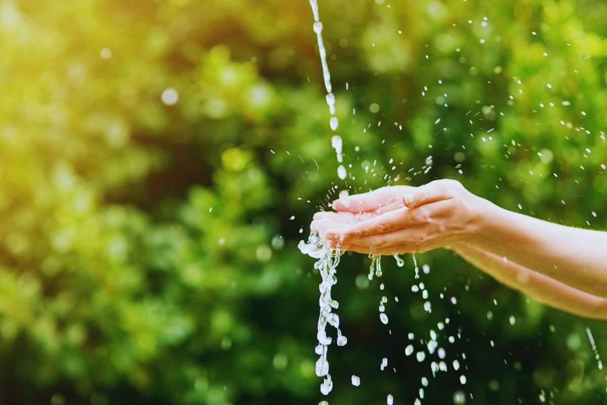
M 0 0 L 0 403 L 318 403 L 297 242 L 341 189 L 447 177 L 605 229 L 605 2 L 319 3 L 345 182 L 307 0 Z M 427 313 L 404 259 L 380 291 L 343 257 L 330 404 L 413 403 L 422 376 L 427 404 L 605 403 L 603 322 L 449 251 L 418 254 Z M 432 378 L 404 347 L 446 317 Z

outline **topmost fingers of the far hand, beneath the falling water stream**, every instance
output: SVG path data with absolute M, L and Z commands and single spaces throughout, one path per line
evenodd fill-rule
M 409 192 L 412 189 L 415 189 L 415 187 L 388 186 L 362 194 L 354 194 L 354 196 L 335 200 L 333 202 L 333 209 L 350 213 L 362 213 L 365 211 L 375 211 L 382 206 L 395 202 L 400 202 L 402 206 L 402 196 L 405 192 Z

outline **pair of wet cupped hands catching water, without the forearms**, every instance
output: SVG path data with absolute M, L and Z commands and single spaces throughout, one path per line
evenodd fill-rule
M 331 247 L 372 254 L 450 248 L 475 234 L 482 202 L 456 180 L 387 186 L 336 200 L 310 225 Z

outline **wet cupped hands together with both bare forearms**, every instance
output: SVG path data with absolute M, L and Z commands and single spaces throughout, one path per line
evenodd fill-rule
M 388 186 L 333 202 L 311 230 L 342 251 L 393 255 L 447 248 L 551 307 L 607 319 L 607 232 L 507 211 L 455 180 Z

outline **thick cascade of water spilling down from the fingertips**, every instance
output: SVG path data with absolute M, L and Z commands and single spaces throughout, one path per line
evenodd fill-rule
M 333 381 L 331 381 L 331 375 L 329 374 L 329 362 L 327 361 L 328 345 L 331 344 L 333 339 L 327 336 L 325 330 L 327 324 L 336 328 L 336 342 L 338 346 L 343 346 L 348 342 L 348 339 L 342 335 L 339 329 L 339 316 L 333 312 L 334 309 L 339 308 L 339 302 L 331 298 L 331 287 L 337 283 L 336 273 L 340 252 L 339 247 L 333 250 L 325 245 L 317 233 L 311 233 L 307 243 L 301 240 L 298 247 L 302 253 L 317 259 L 316 263 L 314 263 L 314 268 L 320 272 L 320 276 L 322 277 L 322 281 L 319 284 L 320 298 L 318 302 L 320 315 L 316 333 L 318 345 L 314 351 L 319 355 L 316 361 L 316 375 L 319 377 L 326 376 L 322 384 L 320 384 L 320 392 L 327 395 L 333 389 Z

